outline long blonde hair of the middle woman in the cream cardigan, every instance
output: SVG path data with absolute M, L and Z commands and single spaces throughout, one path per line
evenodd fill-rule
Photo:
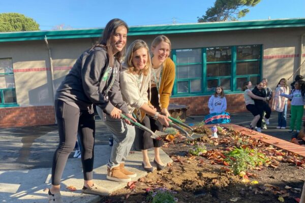
M 127 49 L 126 57 L 125 57 L 125 64 L 129 67 L 129 72 L 134 73 L 135 72 L 135 67 L 134 64 L 132 63 L 132 57 L 133 53 L 137 51 L 138 49 L 145 48 L 147 50 L 147 62 L 142 71 L 144 76 L 147 76 L 149 73 L 149 69 L 151 67 L 151 60 L 150 60 L 150 55 L 149 55 L 149 48 L 143 40 L 136 40 Z

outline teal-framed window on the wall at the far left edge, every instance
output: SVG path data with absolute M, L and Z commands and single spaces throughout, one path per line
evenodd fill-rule
M 11 58 L 0 59 L 0 107 L 17 105 L 13 63 Z

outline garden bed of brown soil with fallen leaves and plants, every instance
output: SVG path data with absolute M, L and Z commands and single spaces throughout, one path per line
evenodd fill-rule
M 176 134 L 162 148 L 172 159 L 100 202 L 298 202 L 305 159 L 231 129 L 195 141 Z

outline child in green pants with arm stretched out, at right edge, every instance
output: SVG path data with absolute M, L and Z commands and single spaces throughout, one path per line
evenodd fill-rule
M 291 99 L 291 120 L 290 120 L 290 130 L 288 133 L 293 133 L 294 124 L 296 122 L 296 132 L 301 129 L 303 111 L 304 111 L 304 94 L 305 94 L 305 83 L 302 80 L 296 81 L 294 83 L 294 89 L 290 94 L 280 94 Z

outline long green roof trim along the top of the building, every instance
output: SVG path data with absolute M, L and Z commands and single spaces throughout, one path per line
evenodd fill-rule
M 212 32 L 244 29 L 264 29 L 283 27 L 305 27 L 305 18 L 279 19 L 279 20 L 256 20 L 256 21 L 231 21 L 231 22 L 211 22 L 177 25 L 153 25 L 134 26 L 129 29 L 129 36 L 138 35 L 161 35 L 170 33 L 188 32 Z M 0 42 L 44 40 L 55 39 L 77 39 L 77 38 L 98 38 L 101 36 L 103 28 L 94 29 L 73 29 L 55 31 L 23 31 L 23 32 L 0 32 Z

